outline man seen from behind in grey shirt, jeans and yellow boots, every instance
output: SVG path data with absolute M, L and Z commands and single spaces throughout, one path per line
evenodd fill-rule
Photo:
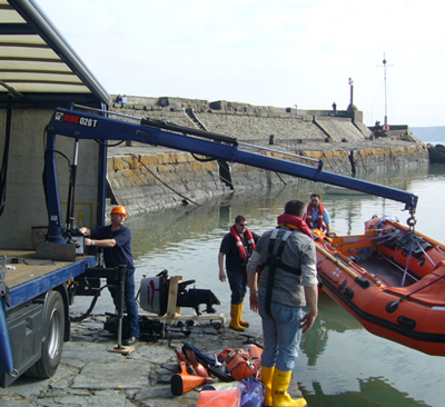
M 288 201 L 278 227 L 261 236 L 247 265 L 250 308 L 263 322 L 264 406 L 306 406 L 304 398 L 291 399 L 287 393 L 301 331 L 313 327 L 318 314 L 316 249 L 301 220 L 304 210 L 301 200 Z

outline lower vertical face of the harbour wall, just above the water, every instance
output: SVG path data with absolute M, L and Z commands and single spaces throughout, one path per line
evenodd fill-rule
M 326 146 L 324 143 L 323 146 Z M 328 146 L 332 146 L 328 143 Z M 316 148 L 314 146 L 314 148 Z M 323 170 L 358 177 L 400 168 L 428 165 L 428 152 L 423 146 L 393 146 L 343 150 L 299 150 L 300 157 L 323 161 Z M 108 159 L 110 205 L 121 204 L 131 214 L 144 214 L 179 205 L 200 205 L 217 196 L 255 188 L 283 187 L 297 183 L 300 178 L 240 163 L 228 163 L 231 186 L 225 182 L 218 161 L 199 161 L 188 152 L 159 148 L 121 149 Z M 281 152 L 263 151 L 268 156 L 293 160 L 312 167 L 315 161 Z

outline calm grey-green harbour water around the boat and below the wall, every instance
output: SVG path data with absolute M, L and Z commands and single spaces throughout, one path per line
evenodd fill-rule
M 373 182 L 408 190 L 419 197 L 416 229 L 438 241 L 445 241 L 445 166 L 398 171 L 368 177 Z M 243 191 L 201 206 L 188 205 L 174 210 L 127 218 L 134 234 L 132 250 L 136 279 L 155 276 L 164 269 L 169 276 L 196 280 L 188 286 L 211 289 L 219 298 L 218 312 L 229 317 L 228 282 L 218 280 L 217 256 L 220 240 L 237 215 L 247 218 L 248 227 L 261 234 L 276 226 L 287 200 L 308 201 L 318 192 L 338 235 L 362 234 L 364 221 L 373 215 L 395 215 L 405 222 L 409 214 L 404 205 L 368 195 L 329 195 L 323 185 L 300 181 L 276 186 L 270 190 Z M 77 298 L 75 311 L 86 310 L 86 299 Z M 204 308 L 204 307 L 202 307 Z M 248 332 L 259 335 L 260 318 L 249 310 Z M 112 310 L 103 294 L 95 314 Z M 182 314 L 192 312 L 182 309 Z M 442 385 L 445 358 L 433 357 L 376 337 L 352 318 L 328 296 L 322 296 L 319 317 L 304 336 L 294 376 L 308 405 L 315 406 L 434 406 L 444 405 Z

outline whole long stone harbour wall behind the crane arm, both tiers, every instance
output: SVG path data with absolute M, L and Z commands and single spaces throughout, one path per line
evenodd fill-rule
M 426 146 L 408 131 L 376 138 L 359 111 L 300 110 L 184 98 L 128 97 L 111 112 L 235 137 L 239 148 L 345 176 L 428 165 Z M 121 116 L 119 116 L 121 117 Z M 127 120 L 127 119 L 123 119 Z M 251 145 L 258 146 L 253 149 Z M 294 156 L 289 156 L 293 153 Z M 307 158 L 312 160 L 307 160 Z M 206 161 L 139 142 L 109 149 L 108 196 L 131 214 L 199 205 L 216 196 L 283 187 L 300 178 L 236 162 Z

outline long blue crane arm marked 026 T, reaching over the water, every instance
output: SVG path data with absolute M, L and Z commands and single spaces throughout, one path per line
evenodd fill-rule
M 132 140 L 152 146 L 162 146 L 196 155 L 239 162 L 275 172 L 325 182 L 360 192 L 388 198 L 405 204 L 414 211 L 417 196 L 383 185 L 323 171 L 318 167 L 294 162 L 239 148 L 236 138 L 178 127 L 150 120 L 128 122 L 68 109 L 57 109 L 47 128 L 48 146 L 52 148 L 50 135 L 76 139 Z M 52 180 L 53 181 L 53 180 Z

